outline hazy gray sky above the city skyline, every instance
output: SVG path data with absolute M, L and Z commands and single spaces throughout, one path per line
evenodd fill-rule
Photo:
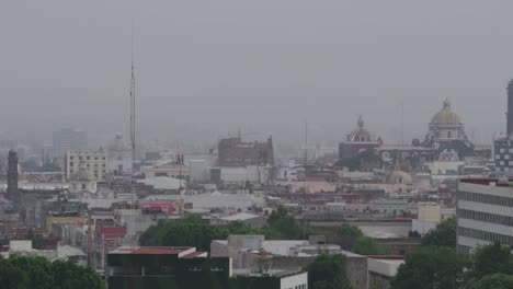
M 2 1 L 0 130 L 127 131 L 135 20 L 139 130 L 241 127 L 342 140 L 364 115 L 423 137 L 449 97 L 467 134 L 504 129 L 513 1 Z M 189 130 L 189 132 L 187 132 Z

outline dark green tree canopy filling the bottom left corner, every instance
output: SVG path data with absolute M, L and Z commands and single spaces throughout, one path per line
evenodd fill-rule
M 105 284 L 92 268 L 71 262 L 11 256 L 0 258 L 0 288 L 102 289 Z

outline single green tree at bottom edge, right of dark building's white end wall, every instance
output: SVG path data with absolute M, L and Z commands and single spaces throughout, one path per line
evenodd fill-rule
M 308 265 L 308 288 L 350 289 L 345 275 L 345 256 L 320 254 Z

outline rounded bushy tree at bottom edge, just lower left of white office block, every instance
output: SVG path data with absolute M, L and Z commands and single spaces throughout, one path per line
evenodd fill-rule
M 467 266 L 468 258 L 453 247 L 418 247 L 406 255 L 391 285 L 396 289 L 456 289 Z

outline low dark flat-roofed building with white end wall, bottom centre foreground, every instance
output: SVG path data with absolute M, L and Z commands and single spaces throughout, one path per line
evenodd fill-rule
M 306 289 L 308 273 L 233 270 L 229 257 L 195 247 L 121 246 L 109 253 L 109 288 Z

